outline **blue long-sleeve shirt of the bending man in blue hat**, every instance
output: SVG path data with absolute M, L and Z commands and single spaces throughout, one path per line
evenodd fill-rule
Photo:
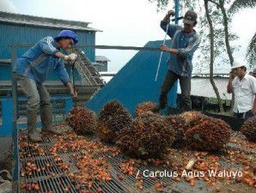
M 33 47 L 17 59 L 13 71 L 37 82 L 46 81 L 46 75 L 52 70 L 58 78 L 66 84 L 70 82 L 70 76 L 64 68 L 64 61 L 55 57 L 56 42 L 47 36 L 40 39 Z

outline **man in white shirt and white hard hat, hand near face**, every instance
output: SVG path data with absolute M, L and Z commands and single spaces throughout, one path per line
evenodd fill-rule
M 236 118 L 252 118 L 256 114 L 256 78 L 247 74 L 247 67 L 242 62 L 235 62 L 232 67 L 228 93 L 235 94 Z

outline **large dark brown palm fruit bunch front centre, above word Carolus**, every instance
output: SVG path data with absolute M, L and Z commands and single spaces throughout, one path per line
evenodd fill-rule
M 135 158 L 161 158 L 174 142 L 174 131 L 166 118 L 145 112 L 121 130 L 117 142 L 120 150 Z

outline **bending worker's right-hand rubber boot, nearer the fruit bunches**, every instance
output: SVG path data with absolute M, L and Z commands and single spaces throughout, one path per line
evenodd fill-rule
M 48 107 L 41 107 L 42 130 L 48 133 L 60 135 L 61 131 L 52 128 L 52 110 Z

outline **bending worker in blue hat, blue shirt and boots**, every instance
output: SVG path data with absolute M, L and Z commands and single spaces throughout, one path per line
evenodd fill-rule
M 33 47 L 17 59 L 13 72 L 21 89 L 27 95 L 27 136 L 32 142 L 40 142 L 40 132 L 36 129 L 37 113 L 40 109 L 42 130 L 59 134 L 52 128 L 52 110 L 50 95 L 43 82 L 49 70 L 69 88 L 70 94 L 76 98 L 77 93 L 70 83 L 70 77 L 64 68 L 64 61 L 76 60 L 76 54 L 64 55 L 60 49 L 66 50 L 77 43 L 76 33 L 71 30 L 61 31 L 56 38 L 47 36 L 40 39 Z

